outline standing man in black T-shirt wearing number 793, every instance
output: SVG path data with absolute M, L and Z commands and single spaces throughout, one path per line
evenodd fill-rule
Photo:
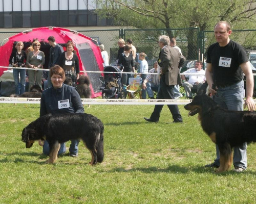
M 255 109 L 252 99 L 253 75 L 249 66 L 245 49 L 238 43 L 230 40 L 232 33 L 230 24 L 226 21 L 219 21 L 214 28 L 216 43 L 208 48 L 206 80 L 211 95 L 221 108 L 233 111 L 243 110 L 244 81 L 243 73 L 246 76 L 246 100 L 244 108 L 249 111 Z M 212 87 L 216 85 L 216 89 Z M 218 92 L 218 95 L 216 94 Z M 234 147 L 233 165 L 234 171 L 242 172 L 247 167 L 246 142 Z M 216 145 L 217 158 L 212 164 L 205 167 L 218 168 L 220 166 L 220 152 Z

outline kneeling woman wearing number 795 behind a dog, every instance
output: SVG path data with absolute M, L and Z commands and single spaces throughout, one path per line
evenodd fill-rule
M 50 79 L 52 86 L 42 92 L 40 103 L 40 117 L 46 114 L 62 113 L 84 113 L 81 98 L 75 87 L 63 84 L 65 81 L 65 71 L 59 65 L 50 68 Z M 69 153 L 71 157 L 78 156 L 78 140 L 71 140 Z M 49 143 L 47 141 L 38 141 L 42 146 L 42 152 L 45 155 L 50 154 Z M 60 144 L 58 155 L 66 152 L 65 143 Z

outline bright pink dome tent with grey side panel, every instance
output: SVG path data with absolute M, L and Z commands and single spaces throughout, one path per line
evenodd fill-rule
M 0 47 L 0 66 L 9 66 L 9 58 L 13 50 L 14 42 L 23 41 L 24 44 L 28 44 L 26 42 L 32 42 L 33 39 L 36 38 L 40 42 L 44 42 L 47 45 L 44 49 L 41 47 L 41 50 L 45 52 L 46 61 L 48 62 L 47 58 L 49 59 L 48 53 L 50 45 L 48 44 L 47 39 L 49 36 L 54 36 L 56 43 L 58 44 L 65 45 L 69 40 L 72 40 L 76 44 L 75 50 L 79 58 L 79 66 L 81 71 L 103 71 L 103 59 L 96 40 L 76 31 L 56 27 L 32 29 L 10 37 L 9 40 Z M 48 64 L 46 63 L 44 67 L 48 68 Z M 3 74 L 4 70 L 7 69 L 0 69 L 0 76 Z M 99 89 L 101 84 L 99 78 L 102 74 L 90 72 L 86 74 L 89 76 L 92 83 L 92 98 L 100 96 L 101 91 Z

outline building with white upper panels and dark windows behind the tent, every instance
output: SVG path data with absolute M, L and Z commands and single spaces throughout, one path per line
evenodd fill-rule
M 0 0 L 0 28 L 111 25 L 96 8 L 97 0 Z

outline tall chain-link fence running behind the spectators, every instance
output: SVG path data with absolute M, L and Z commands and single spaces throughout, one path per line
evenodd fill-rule
M 213 31 L 200 31 L 199 28 L 81 30 L 78 32 L 97 40 L 99 44 L 104 44 L 110 57 L 110 64 L 117 60 L 118 39 L 123 38 L 126 41 L 131 38 L 137 53 L 143 52 L 147 55 L 146 60 L 150 68 L 153 67 L 159 56 L 160 50 L 157 41 L 160 35 L 175 37 L 177 46 L 181 48 L 182 54 L 188 61 L 205 59 L 208 46 L 216 42 Z M 5 44 L 9 37 L 18 33 L 20 32 L 0 32 L 1 45 Z M 230 38 L 241 44 L 246 50 L 256 50 L 256 30 L 233 30 Z

